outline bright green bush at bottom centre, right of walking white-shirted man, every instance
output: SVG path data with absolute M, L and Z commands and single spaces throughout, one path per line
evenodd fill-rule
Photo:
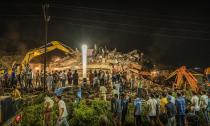
M 102 100 L 86 101 L 82 100 L 74 108 L 74 116 L 70 119 L 73 126 L 98 126 L 101 120 L 110 123 L 111 114 L 108 104 Z

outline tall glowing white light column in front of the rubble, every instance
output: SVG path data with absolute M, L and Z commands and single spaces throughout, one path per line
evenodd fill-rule
M 87 77 L 87 45 L 82 45 L 82 75 L 83 78 Z

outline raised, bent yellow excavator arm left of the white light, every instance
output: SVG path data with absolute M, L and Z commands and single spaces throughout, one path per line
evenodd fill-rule
M 58 50 L 65 52 L 66 54 L 74 55 L 74 50 L 72 48 L 64 45 L 63 43 L 61 43 L 59 41 L 52 41 L 52 42 L 48 43 L 46 49 L 47 49 L 46 52 L 50 52 L 55 49 L 58 49 Z M 24 68 L 26 65 L 29 64 L 29 62 L 33 58 L 44 54 L 44 52 L 45 52 L 45 46 L 41 46 L 39 48 L 35 48 L 35 49 L 27 52 L 24 59 L 21 62 L 21 67 Z

